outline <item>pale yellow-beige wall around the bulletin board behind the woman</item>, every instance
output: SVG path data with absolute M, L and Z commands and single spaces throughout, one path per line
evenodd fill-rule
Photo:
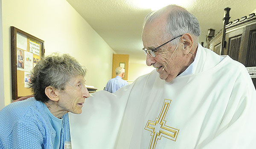
M 102 90 L 111 78 L 110 46 L 66 0 L 2 0 L 5 105 L 11 102 L 10 26 L 44 40 L 45 55 L 69 53 L 87 67 L 86 84 Z

